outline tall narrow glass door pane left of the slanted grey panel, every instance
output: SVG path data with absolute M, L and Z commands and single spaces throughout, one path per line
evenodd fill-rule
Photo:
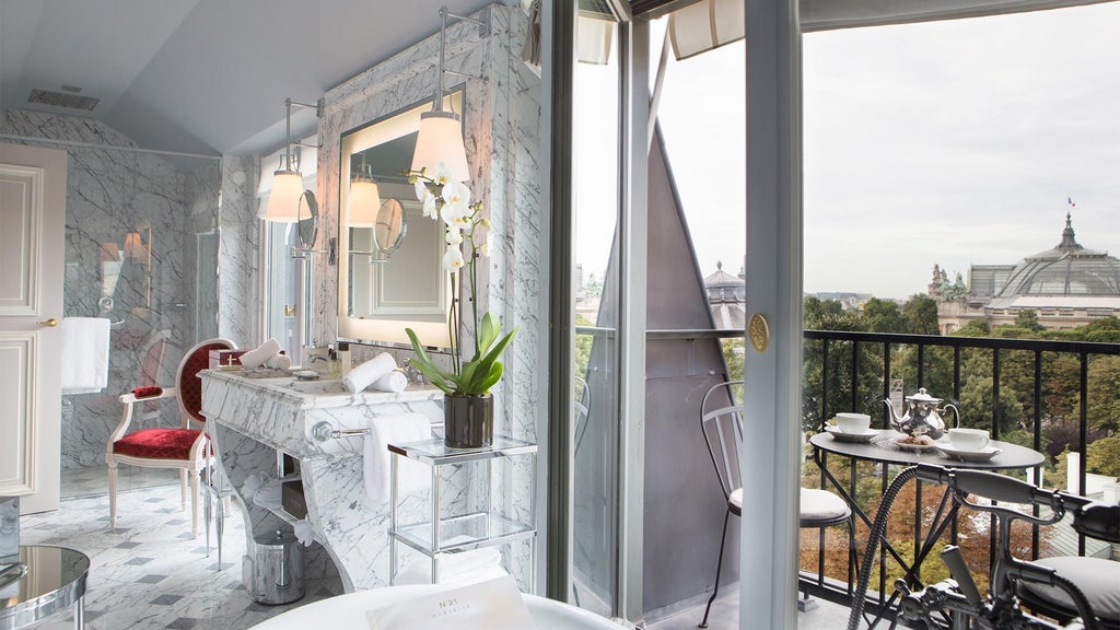
M 577 19 L 573 72 L 570 601 L 613 617 L 619 556 L 619 25 Z

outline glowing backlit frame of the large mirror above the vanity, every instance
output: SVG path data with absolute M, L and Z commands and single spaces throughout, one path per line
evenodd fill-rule
M 464 111 L 464 90 L 463 87 L 458 87 L 448 92 L 444 96 L 444 109 L 445 111 L 461 113 Z M 390 318 L 383 319 L 351 317 L 349 315 L 351 263 L 353 256 L 357 253 L 351 253 L 349 242 L 349 210 L 347 206 L 349 202 L 349 182 L 352 173 L 351 156 L 383 142 L 416 132 L 420 128 L 420 114 L 430 111 L 431 108 L 431 100 L 426 99 L 424 101 L 362 124 L 361 127 L 344 131 L 339 136 L 338 154 L 340 164 L 338 169 L 337 336 L 342 341 L 366 345 L 411 349 L 412 344 L 409 341 L 408 334 L 404 332 L 404 328 L 409 327 L 417 333 L 420 343 L 422 343 L 428 351 L 445 353 L 451 351 L 451 326 L 449 324 L 450 305 L 452 299 L 451 282 L 450 276 L 444 270 L 441 263 L 437 267 L 440 276 L 439 282 L 442 285 L 441 302 L 446 306 L 444 308 L 444 316 L 441 321 L 410 321 L 407 318 L 405 313 L 389 313 L 386 314 L 386 317 Z M 388 198 L 383 198 L 382 203 L 384 204 L 388 201 Z M 408 209 L 408 206 L 413 204 L 402 203 L 401 205 L 404 209 Z M 414 235 L 414 232 L 410 235 Z M 438 258 L 441 261 L 444 253 L 444 240 L 441 238 L 437 239 L 437 243 L 440 248 Z M 392 265 L 392 257 L 390 257 L 384 265 Z M 417 315 L 429 315 L 429 313 L 417 313 Z

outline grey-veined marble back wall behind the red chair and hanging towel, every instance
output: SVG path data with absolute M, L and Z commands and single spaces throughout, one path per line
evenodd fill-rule
M 121 417 L 116 396 L 139 385 L 149 337 L 171 332 L 164 383 L 195 342 L 196 234 L 217 224 L 218 163 L 104 148 L 136 145 L 88 118 L 6 110 L 0 133 L 97 145 L 59 146 L 68 154 L 63 316 L 112 321 L 109 387 L 63 397 L 62 462 L 102 465 Z M 130 232 L 144 245 L 134 258 L 124 251 Z

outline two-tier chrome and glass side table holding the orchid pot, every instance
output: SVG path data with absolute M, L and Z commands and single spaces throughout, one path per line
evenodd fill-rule
M 390 464 L 390 525 L 389 525 L 389 563 L 390 585 L 396 578 L 398 543 L 416 549 L 431 558 L 431 581 L 438 583 L 438 559 L 441 556 L 506 545 L 517 540 L 530 541 L 531 562 L 536 555 L 536 527 L 532 522 L 535 510 L 529 510 L 525 522 L 511 518 L 501 510 L 495 510 L 491 493 L 493 491 L 494 465 L 510 457 L 530 455 L 535 467 L 536 445 L 511 437 L 494 436 L 493 444 L 485 448 L 450 448 L 442 438 L 390 444 L 389 451 L 394 456 Z M 431 466 L 431 512 L 426 519 L 417 522 L 402 524 L 398 513 L 399 478 L 398 465 L 401 457 L 408 457 Z M 482 475 L 483 500 L 477 509 L 467 509 L 465 513 L 441 516 L 440 470 L 444 466 L 463 464 L 482 464 L 485 472 Z M 531 469 L 532 470 L 532 469 Z M 535 484 L 535 475 L 533 476 Z M 535 487 L 529 490 L 530 498 L 535 497 Z M 531 499 L 532 500 L 532 499 Z

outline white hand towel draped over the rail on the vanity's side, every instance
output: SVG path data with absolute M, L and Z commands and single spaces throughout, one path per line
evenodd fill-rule
M 365 492 L 374 509 L 389 502 L 390 457 L 400 457 L 389 452 L 390 444 L 404 444 L 431 439 L 431 424 L 423 414 L 401 414 L 399 416 L 374 416 L 370 418 L 370 434 L 365 436 L 362 472 Z M 431 482 L 431 467 L 405 457 L 396 465 L 396 490 L 399 494 L 424 490 Z

